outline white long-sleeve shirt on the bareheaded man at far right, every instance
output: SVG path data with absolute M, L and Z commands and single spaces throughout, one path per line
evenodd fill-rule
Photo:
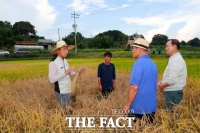
M 167 82 L 168 87 L 165 91 L 182 90 L 186 84 L 187 67 L 179 52 L 169 58 L 167 67 L 164 71 L 162 83 Z

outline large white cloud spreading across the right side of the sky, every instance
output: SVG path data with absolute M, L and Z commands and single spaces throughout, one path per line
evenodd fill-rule
M 180 5 L 182 5 L 181 3 Z M 194 4 L 196 6 L 194 6 Z M 177 31 L 177 39 L 188 41 L 200 33 L 200 1 L 185 1 L 185 5 L 179 6 L 174 10 L 167 10 L 158 15 L 150 15 L 146 17 L 121 18 L 128 24 L 146 25 L 154 27 L 147 31 L 145 38 L 151 41 L 155 34 L 166 34 L 171 25 L 184 23 L 185 26 Z M 190 10 L 188 10 L 190 9 Z

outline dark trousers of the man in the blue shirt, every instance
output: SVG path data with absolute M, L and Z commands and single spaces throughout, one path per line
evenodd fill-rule
M 144 118 L 144 120 L 149 124 L 153 123 L 154 116 L 155 116 L 155 112 L 152 112 L 151 114 L 135 114 L 135 113 L 130 112 L 128 114 L 128 117 L 135 117 L 134 122 L 136 122 L 138 119 L 141 120 L 142 118 Z

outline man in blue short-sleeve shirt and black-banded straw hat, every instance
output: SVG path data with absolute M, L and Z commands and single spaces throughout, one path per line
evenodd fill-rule
M 156 112 L 157 67 L 148 55 L 148 41 L 139 38 L 132 47 L 137 60 L 132 67 L 124 110 L 135 120 L 144 118 L 152 123 Z

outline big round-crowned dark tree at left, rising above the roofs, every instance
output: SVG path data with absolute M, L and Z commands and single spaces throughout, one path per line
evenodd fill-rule
M 13 34 L 16 36 L 25 36 L 25 37 L 36 35 L 35 26 L 33 26 L 29 22 L 24 22 L 24 21 L 16 22 L 13 25 Z

